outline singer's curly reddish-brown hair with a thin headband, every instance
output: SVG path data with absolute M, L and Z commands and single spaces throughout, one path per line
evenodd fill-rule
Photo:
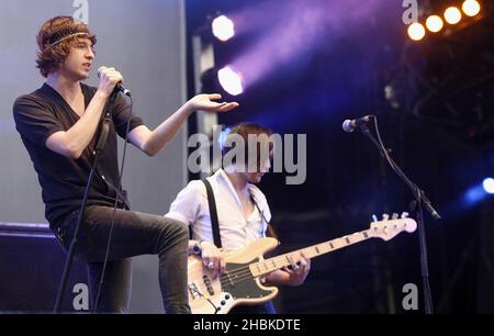
M 79 37 L 89 38 L 92 46 L 97 43 L 97 37 L 88 25 L 72 16 L 55 16 L 42 25 L 36 35 L 40 48 L 36 68 L 43 77 L 58 69 L 70 54 L 71 47 L 79 42 Z

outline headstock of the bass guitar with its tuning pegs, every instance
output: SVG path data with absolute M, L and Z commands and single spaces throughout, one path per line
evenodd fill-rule
M 401 219 L 397 214 L 393 214 L 392 219 L 388 214 L 384 214 L 382 221 L 374 221 L 370 224 L 370 229 L 368 233 L 372 237 L 379 237 L 384 240 L 390 240 L 398 235 L 401 232 L 414 232 L 417 228 L 417 223 L 413 219 L 408 219 L 406 212 L 402 213 Z

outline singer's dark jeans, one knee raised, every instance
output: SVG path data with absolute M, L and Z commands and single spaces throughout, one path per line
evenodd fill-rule
M 70 247 L 79 211 L 72 212 L 56 229 L 56 236 L 66 251 Z M 96 300 L 101 278 L 112 215 L 113 208 L 89 206 L 79 231 L 76 256 L 88 264 L 92 302 Z M 190 313 L 187 292 L 188 240 L 188 227 L 181 222 L 116 210 L 98 312 L 128 311 L 132 284 L 130 257 L 153 254 L 159 257 L 159 285 L 165 311 L 171 314 Z

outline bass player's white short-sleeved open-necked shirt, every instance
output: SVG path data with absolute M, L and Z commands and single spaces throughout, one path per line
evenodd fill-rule
M 220 236 L 224 250 L 242 249 L 247 244 L 266 236 L 268 227 L 266 221 L 271 220 L 271 212 L 259 188 L 251 183 L 247 184 L 266 221 L 257 206 L 254 206 L 252 213 L 246 220 L 240 200 L 223 169 L 209 177 L 207 181 L 211 183 L 216 201 Z M 166 216 L 191 225 L 193 239 L 214 242 L 207 193 L 201 180 L 190 181 L 178 193 Z

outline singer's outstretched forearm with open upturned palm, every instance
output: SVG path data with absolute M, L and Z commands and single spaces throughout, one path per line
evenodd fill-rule
M 158 154 L 178 133 L 188 117 L 197 110 L 227 112 L 238 107 L 236 102 L 214 102 L 220 94 L 199 94 L 183 104 L 154 131 L 142 125 L 128 134 L 130 141 L 149 156 Z

